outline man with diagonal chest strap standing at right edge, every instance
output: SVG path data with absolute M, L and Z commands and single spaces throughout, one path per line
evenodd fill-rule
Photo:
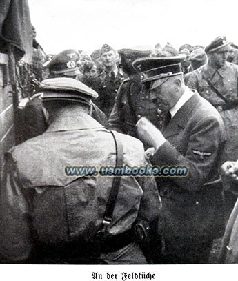
M 227 139 L 221 163 L 238 158 L 238 68 L 227 61 L 230 49 L 226 37 L 217 37 L 205 48 L 208 63 L 185 76 L 186 85 L 215 106 L 224 120 Z M 236 197 L 225 193 L 229 216 Z

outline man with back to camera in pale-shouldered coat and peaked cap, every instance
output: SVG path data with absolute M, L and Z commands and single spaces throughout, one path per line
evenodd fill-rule
M 154 178 L 121 177 L 112 221 L 101 244 L 96 244 L 99 251 L 97 246 L 90 248 L 92 234 L 103 222 L 114 177 L 67 176 L 65 168 L 95 166 L 99 171 L 100 166 L 115 166 L 115 141 L 90 116 L 91 99 L 97 97 L 94 90 L 70 78 L 43 80 L 41 90 L 49 128 L 5 155 L 1 262 L 146 264 L 132 225 L 150 224 L 157 217 L 160 199 Z M 147 164 L 138 139 L 117 133 L 117 151 L 118 139 L 123 164 Z

